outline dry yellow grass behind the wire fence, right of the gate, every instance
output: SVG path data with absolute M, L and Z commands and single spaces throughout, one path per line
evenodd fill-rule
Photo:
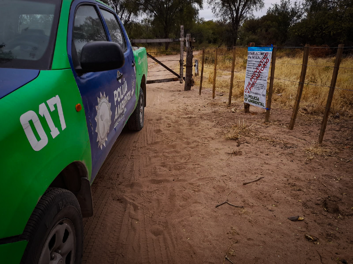
M 217 53 L 216 90 L 228 93 L 231 77 L 232 50 L 220 48 Z M 246 47 L 237 48 L 232 93 L 234 98 L 243 97 L 244 94 L 246 55 Z M 199 73 L 201 75 L 202 51 L 195 57 L 199 59 Z M 202 83 L 204 88 L 213 87 L 214 61 L 215 49 L 206 49 Z M 302 62 L 303 50 L 279 50 L 277 52 L 275 78 L 282 80 L 274 80 L 273 101 L 288 106 L 294 105 Z M 305 83 L 310 84 L 304 85 L 300 105 L 308 108 L 311 113 L 320 113 L 324 110 L 329 88 L 322 86 L 330 86 L 334 62 L 335 57 L 315 58 L 309 56 Z M 331 105 L 332 112 L 340 112 L 341 115 L 346 116 L 353 115 L 353 69 L 346 69 L 352 68 L 352 65 L 352 57 L 342 59 L 336 82 L 336 88 L 342 89 L 335 89 Z M 201 76 L 194 77 L 196 85 L 200 84 L 200 78 Z

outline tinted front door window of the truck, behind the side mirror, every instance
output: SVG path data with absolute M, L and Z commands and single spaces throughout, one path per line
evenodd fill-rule
M 73 44 L 77 56 L 80 58 L 82 47 L 91 41 L 107 41 L 107 36 L 102 21 L 94 6 L 80 6 L 75 13 L 73 32 Z

